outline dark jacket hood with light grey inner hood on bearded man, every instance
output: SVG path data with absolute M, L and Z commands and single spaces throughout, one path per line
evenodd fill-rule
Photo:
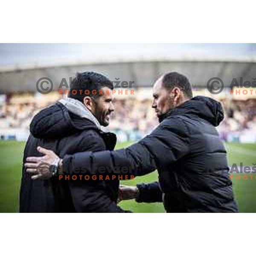
M 65 137 L 86 129 L 100 131 L 98 120 L 80 103 L 76 99 L 68 98 L 44 108 L 32 119 L 31 134 L 35 138 L 49 139 Z

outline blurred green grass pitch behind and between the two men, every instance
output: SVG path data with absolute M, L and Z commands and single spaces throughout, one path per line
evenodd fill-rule
M 0 142 L 0 212 L 18 212 L 18 198 L 20 189 L 21 164 L 23 157 L 23 148 L 25 143 L 16 141 Z M 123 148 L 129 143 L 122 143 L 116 148 Z M 228 152 L 229 165 L 240 162 L 244 166 L 252 166 L 256 163 L 256 144 L 226 144 Z M 233 178 L 233 188 L 236 200 L 239 204 L 240 212 L 256 212 L 256 179 L 243 180 L 239 175 Z M 137 177 L 134 180 L 123 181 L 125 185 L 135 185 L 140 182 L 151 182 L 157 180 L 157 172 L 153 172 L 143 177 Z M 255 193 L 254 193 L 255 192 Z M 124 209 L 133 212 L 164 212 L 163 205 L 154 204 L 137 204 L 134 200 L 123 201 L 119 204 Z

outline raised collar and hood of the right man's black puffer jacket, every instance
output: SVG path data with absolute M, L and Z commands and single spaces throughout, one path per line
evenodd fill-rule
M 196 96 L 174 108 L 172 111 L 160 116 L 159 121 L 162 122 L 168 116 L 183 114 L 197 115 L 214 126 L 218 126 L 224 118 L 224 111 L 220 102 L 209 97 Z

